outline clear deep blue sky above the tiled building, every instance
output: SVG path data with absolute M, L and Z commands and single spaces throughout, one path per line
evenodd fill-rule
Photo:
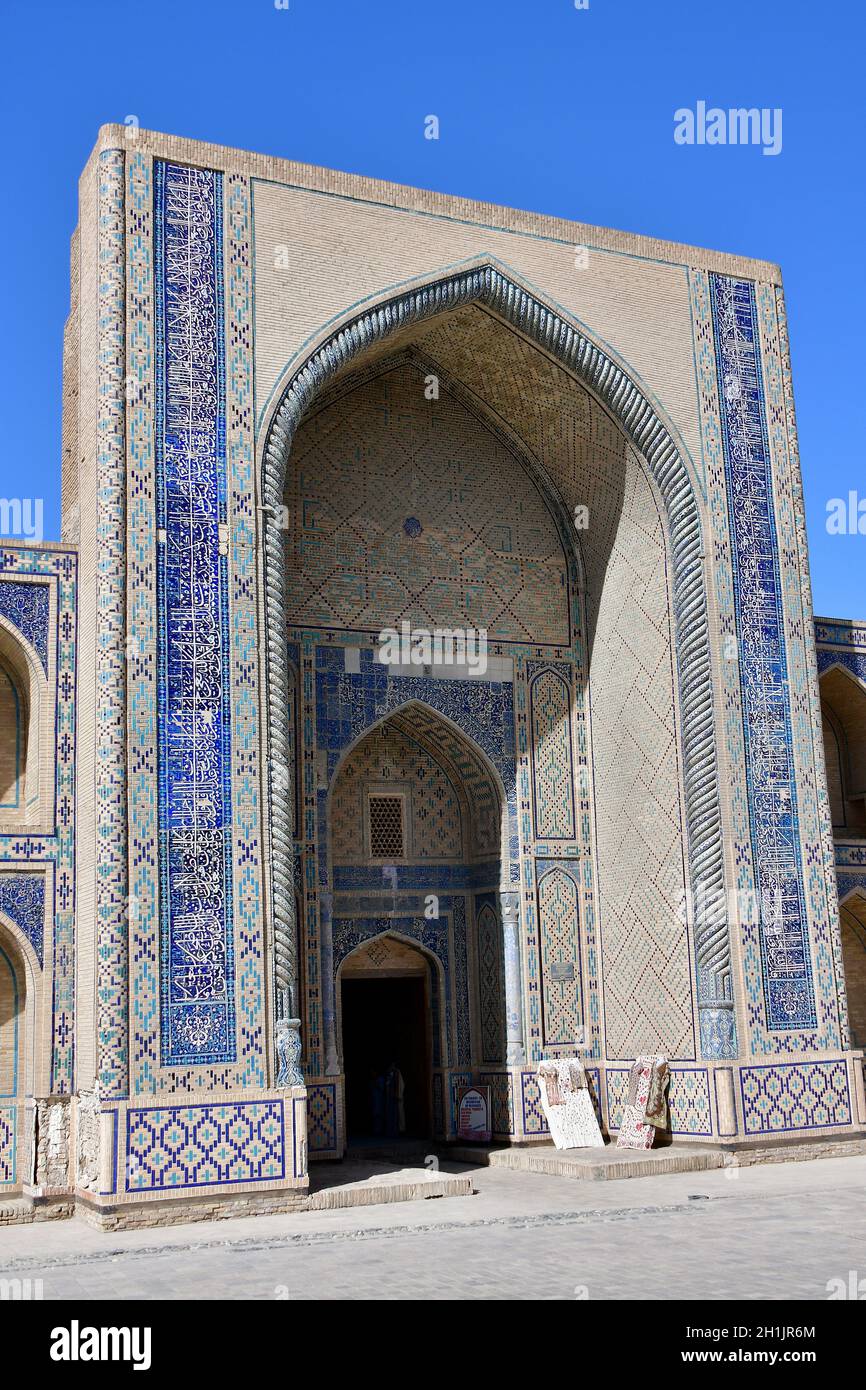
M 781 264 L 816 610 L 866 617 L 862 0 L 6 0 L 0 496 L 60 528 L 78 174 L 143 126 Z M 680 147 L 673 113 L 781 107 L 783 150 Z M 438 142 L 423 138 L 435 113 Z

